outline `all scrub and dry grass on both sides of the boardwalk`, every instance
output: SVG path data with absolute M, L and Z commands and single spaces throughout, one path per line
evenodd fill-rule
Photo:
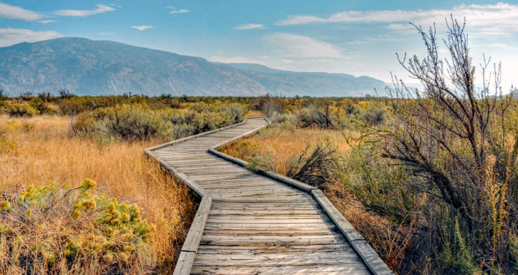
M 268 115 L 221 150 L 318 186 L 395 272 L 514 274 L 518 101 L 489 60 L 474 86 L 462 24 L 418 31 L 424 90 L 390 98 L 0 91 L 0 273 L 171 273 L 198 201 L 143 149 Z

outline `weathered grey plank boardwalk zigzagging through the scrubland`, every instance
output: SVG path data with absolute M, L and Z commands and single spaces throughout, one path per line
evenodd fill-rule
M 267 124 L 146 149 L 202 198 L 174 274 L 393 274 L 320 190 L 213 150 Z

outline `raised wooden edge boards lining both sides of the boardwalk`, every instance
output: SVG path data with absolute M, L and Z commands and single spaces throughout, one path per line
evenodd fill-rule
M 269 125 L 271 122 L 267 119 L 267 117 L 257 117 L 257 118 L 264 118 Z M 180 172 L 175 167 L 172 167 L 167 162 L 162 160 L 160 157 L 157 157 L 152 151 L 156 149 L 160 149 L 166 146 L 170 146 L 172 144 L 176 144 L 179 142 L 183 142 L 186 140 L 194 139 L 197 137 L 205 136 L 211 133 L 219 132 L 224 129 L 232 128 L 238 125 L 241 125 L 243 123 L 246 123 L 247 119 L 244 119 L 243 122 L 215 129 L 213 131 L 201 133 L 198 135 L 194 135 L 191 137 L 186 137 L 174 141 L 170 141 L 167 143 L 160 144 L 155 147 L 151 147 L 148 149 L 145 149 L 146 154 L 149 157 L 154 158 L 157 162 L 159 162 L 165 169 L 169 170 L 175 177 L 182 180 L 186 185 L 188 185 L 192 191 L 194 191 L 195 195 L 197 195 L 199 198 L 202 198 L 202 201 L 199 204 L 198 211 L 196 212 L 195 218 L 193 220 L 193 223 L 191 225 L 191 228 L 189 229 L 189 233 L 187 237 L 185 238 L 185 242 L 183 244 L 180 256 L 178 258 L 178 263 L 174 271 L 174 275 L 187 275 L 190 274 L 191 268 L 194 262 L 194 257 L 196 256 L 197 249 L 199 247 L 200 240 L 203 236 L 203 230 L 205 228 L 205 224 L 208 219 L 208 214 L 212 205 L 212 198 L 210 194 L 203 189 L 203 187 L 199 186 L 194 180 L 186 176 L 184 173 Z M 208 152 L 216 155 L 218 157 L 221 157 L 227 161 L 233 162 L 235 164 L 238 164 L 240 166 L 247 166 L 248 162 L 240 160 L 239 158 L 229 156 L 225 153 L 219 152 L 215 149 L 218 149 L 222 146 L 225 146 L 226 144 L 232 143 L 238 139 L 241 139 L 243 137 L 249 136 L 253 133 L 256 133 L 261 128 L 267 126 L 260 126 L 256 129 L 253 129 L 250 132 L 244 133 L 242 135 L 239 135 L 237 137 L 234 137 L 230 140 L 221 142 L 217 144 L 216 146 L 213 146 L 208 149 Z M 294 186 L 299 190 L 305 191 L 309 194 L 311 194 L 314 199 L 318 202 L 318 204 L 322 207 L 322 209 L 327 213 L 329 218 L 333 221 L 333 223 L 340 229 L 341 233 L 346 237 L 346 239 L 351 243 L 354 250 L 358 253 L 358 255 L 363 259 L 367 267 L 370 269 L 370 271 L 375 275 L 388 275 L 388 274 L 394 274 L 394 272 L 387 267 L 387 265 L 383 262 L 383 260 L 379 257 L 379 255 L 374 251 L 370 245 L 367 243 L 367 241 L 362 237 L 361 234 L 358 233 L 358 231 L 347 221 L 346 218 L 343 217 L 343 215 L 333 206 L 333 204 L 327 199 L 327 197 L 322 193 L 321 190 L 318 188 L 311 186 L 309 184 L 294 180 L 292 178 L 285 177 L 283 175 L 280 175 L 279 173 L 275 173 L 272 171 L 268 171 L 262 168 L 257 169 L 255 172 L 257 172 L 260 175 L 266 176 L 268 178 L 272 178 L 275 180 L 278 180 L 280 182 L 286 183 L 288 185 Z

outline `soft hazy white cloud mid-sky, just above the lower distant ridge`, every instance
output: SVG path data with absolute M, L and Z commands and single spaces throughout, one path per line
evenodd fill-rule
M 342 57 L 338 47 L 307 36 L 275 33 L 264 38 L 272 51 L 285 57 Z

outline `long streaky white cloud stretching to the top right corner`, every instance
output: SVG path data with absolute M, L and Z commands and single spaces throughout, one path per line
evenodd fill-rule
M 323 18 L 309 15 L 288 16 L 287 19 L 279 20 L 277 25 L 299 25 L 314 23 L 390 23 L 391 30 L 409 28 L 408 22 L 416 25 L 428 26 L 434 22 L 438 27 L 443 26 L 444 18 L 466 18 L 468 26 L 484 34 L 507 34 L 518 32 L 518 4 L 497 3 L 494 5 L 459 5 L 452 9 L 430 9 L 430 10 L 378 10 L 378 11 L 343 11 Z M 403 24 L 392 24 L 392 23 Z

